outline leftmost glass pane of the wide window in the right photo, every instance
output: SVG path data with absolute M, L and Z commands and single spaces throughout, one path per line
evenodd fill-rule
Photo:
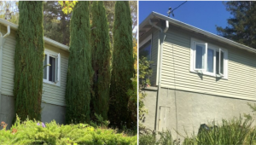
M 195 68 L 203 69 L 205 66 L 206 47 L 204 44 L 196 44 L 195 46 Z

